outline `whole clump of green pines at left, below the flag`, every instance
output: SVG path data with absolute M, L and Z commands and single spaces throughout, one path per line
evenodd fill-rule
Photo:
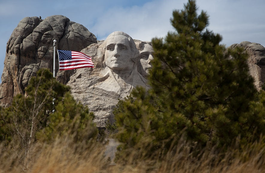
M 1 108 L 0 141 L 16 153 L 23 151 L 18 157 L 24 170 L 37 141 L 49 143 L 65 136 L 72 136 L 76 143 L 95 141 L 98 130 L 92 123 L 93 113 L 76 103 L 69 90 L 48 69 L 40 69 L 29 81 L 26 96 L 18 94 L 10 107 Z

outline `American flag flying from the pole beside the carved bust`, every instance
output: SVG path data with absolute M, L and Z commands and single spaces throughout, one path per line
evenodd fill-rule
M 59 70 L 94 67 L 91 57 L 81 52 L 57 50 L 59 56 Z

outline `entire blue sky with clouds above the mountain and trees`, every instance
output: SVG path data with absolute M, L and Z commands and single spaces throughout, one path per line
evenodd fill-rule
M 6 44 L 24 17 L 63 15 L 84 25 L 98 40 L 114 31 L 133 39 L 151 41 L 174 31 L 173 10 L 183 9 L 188 0 L 0 0 L 0 74 L 4 68 Z M 198 13 L 209 15 L 209 30 L 222 35 L 230 46 L 250 41 L 265 46 L 264 0 L 197 0 Z M 4 73 L 4 72 L 3 72 Z

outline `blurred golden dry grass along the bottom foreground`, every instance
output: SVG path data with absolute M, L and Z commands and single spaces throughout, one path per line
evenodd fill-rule
M 192 157 L 191 148 L 167 154 L 162 162 L 145 160 L 137 164 L 122 162 L 109 165 L 104 158 L 105 147 L 99 144 L 84 149 L 73 145 L 71 140 L 57 140 L 52 145 L 36 144 L 28 169 L 18 160 L 19 153 L 12 148 L 0 148 L 0 173 L 258 173 L 265 172 L 264 145 L 255 143 L 245 152 L 214 154 L 214 150 L 203 151 L 200 157 Z M 135 157 L 137 153 L 132 153 Z M 221 159 L 222 158 L 222 159 Z M 220 160 L 222 160 L 220 162 Z M 243 161 L 244 160 L 244 161 Z M 218 162 L 217 162 L 218 161 Z M 133 160 L 131 160 L 133 162 Z

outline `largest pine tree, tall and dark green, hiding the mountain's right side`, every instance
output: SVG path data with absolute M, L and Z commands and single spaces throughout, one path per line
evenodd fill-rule
M 125 113 L 116 114 L 124 151 L 149 139 L 137 147 L 148 146 L 150 157 L 159 148 L 166 152 L 176 146 L 181 136 L 201 148 L 207 143 L 221 148 L 239 136 L 253 140 L 257 128 L 265 132 L 264 116 L 255 111 L 248 54 L 221 45 L 222 37 L 207 29 L 208 18 L 204 11 L 198 15 L 195 0 L 189 0 L 184 10 L 173 11 L 176 32 L 152 39 L 151 89 L 146 94 L 137 88 L 135 102 L 125 101 Z

